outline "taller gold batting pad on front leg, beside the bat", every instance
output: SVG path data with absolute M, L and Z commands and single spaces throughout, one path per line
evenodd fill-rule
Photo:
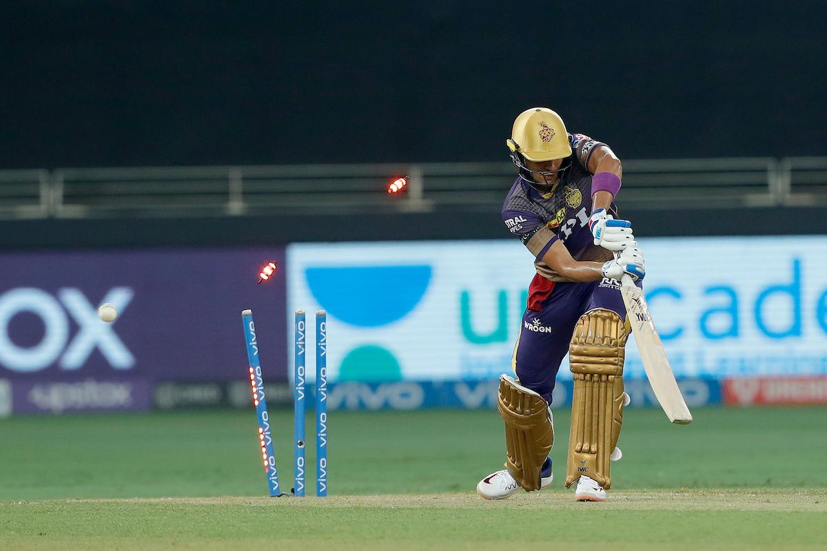
M 566 487 L 581 475 L 609 489 L 609 458 L 623 425 L 624 346 L 629 332 L 615 312 L 598 309 L 577 321 L 569 345 L 571 400 Z

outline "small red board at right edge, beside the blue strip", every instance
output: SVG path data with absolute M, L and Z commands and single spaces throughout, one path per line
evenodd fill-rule
M 728 378 L 723 385 L 727 404 L 827 404 L 825 376 Z

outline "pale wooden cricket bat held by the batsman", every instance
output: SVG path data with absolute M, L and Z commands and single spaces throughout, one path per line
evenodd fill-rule
M 620 283 L 620 295 L 626 305 L 626 316 L 632 325 L 634 341 L 638 344 L 643 369 L 655 397 L 672 423 L 689 425 L 692 422 L 692 414 L 686 407 L 681 389 L 677 387 L 661 338 L 655 330 L 652 314 L 649 313 L 649 306 L 643 298 L 643 291 L 635 286 L 629 274 L 624 273 Z

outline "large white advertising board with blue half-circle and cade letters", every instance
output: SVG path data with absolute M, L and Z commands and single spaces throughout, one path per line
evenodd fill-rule
M 640 245 L 648 303 L 677 376 L 827 373 L 827 237 Z M 295 244 L 287 258 L 289 311 L 327 310 L 331 380 L 509 372 L 534 274 L 519 240 Z M 626 359 L 626 378 L 643 378 L 633 339 Z M 571 378 L 566 362 L 561 378 Z

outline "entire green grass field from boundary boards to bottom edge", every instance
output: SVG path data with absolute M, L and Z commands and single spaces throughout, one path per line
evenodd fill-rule
M 260 497 L 252 411 L 2 420 L 0 549 L 827 549 L 827 408 L 625 413 L 595 504 L 559 482 L 566 411 L 552 490 L 497 502 L 474 493 L 502 464 L 495 411 L 333 412 L 326 500 Z M 275 427 L 289 488 L 289 413 Z

